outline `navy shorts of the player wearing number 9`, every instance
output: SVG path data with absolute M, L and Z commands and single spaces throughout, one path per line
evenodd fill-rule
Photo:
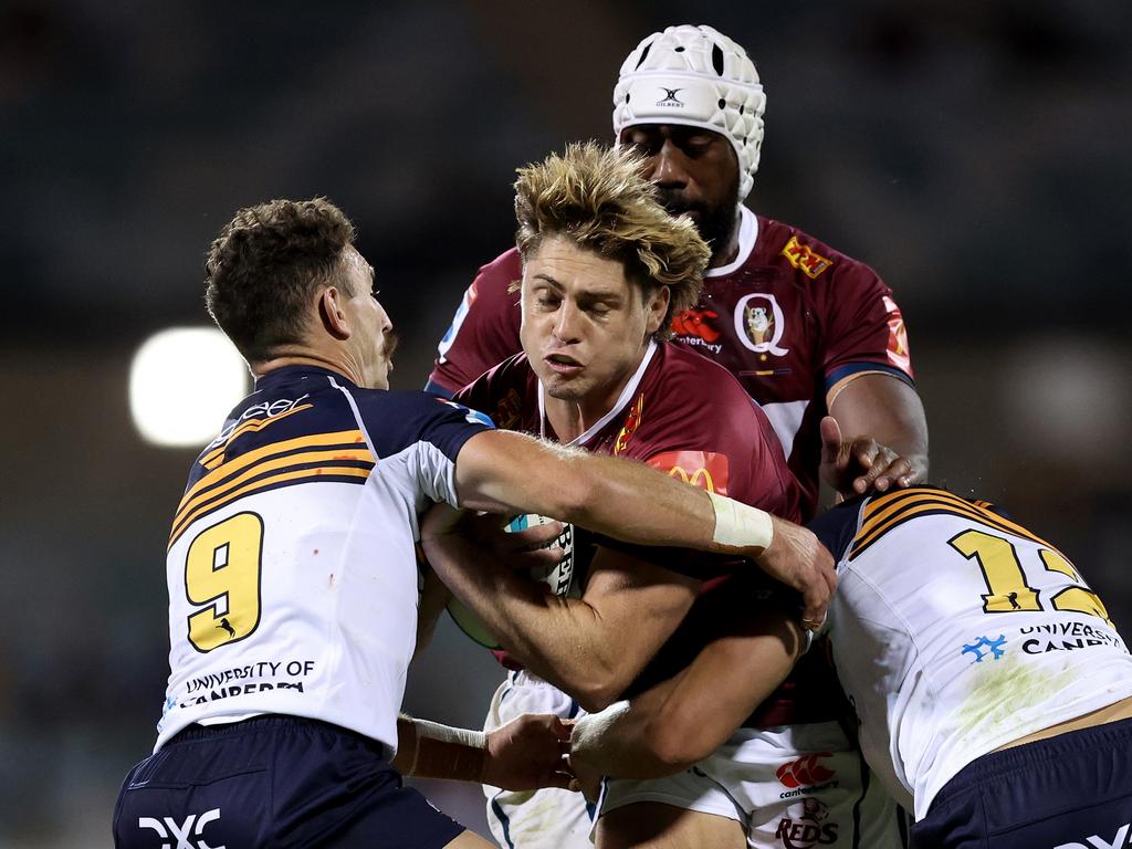
M 464 831 L 375 740 L 291 717 L 181 731 L 126 777 L 113 829 L 117 849 L 434 849 Z

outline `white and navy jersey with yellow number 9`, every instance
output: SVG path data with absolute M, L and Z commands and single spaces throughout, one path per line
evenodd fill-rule
M 260 378 L 194 463 L 170 534 L 160 748 L 283 713 L 396 748 L 417 628 L 418 514 L 456 504 L 486 417 L 319 368 Z

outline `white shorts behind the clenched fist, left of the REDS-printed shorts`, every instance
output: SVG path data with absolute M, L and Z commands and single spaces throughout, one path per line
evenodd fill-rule
M 523 713 L 554 713 L 563 719 L 585 715 L 577 702 L 554 685 L 525 671 L 512 672 L 491 700 L 483 730 L 494 731 Z M 590 830 L 597 809 L 582 794 L 488 786 L 483 792 L 488 824 L 503 849 L 593 849 Z

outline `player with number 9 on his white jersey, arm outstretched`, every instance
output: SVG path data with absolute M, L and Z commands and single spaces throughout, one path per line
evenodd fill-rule
M 488 846 L 401 786 L 398 727 L 410 771 L 563 780 L 552 719 L 487 743 L 397 719 L 430 503 L 746 554 L 824 612 L 832 569 L 808 531 L 388 392 L 392 323 L 353 237 L 325 199 L 276 200 L 237 213 L 209 251 L 208 309 L 256 389 L 197 457 L 173 520 L 165 707 L 119 796 L 118 847 Z

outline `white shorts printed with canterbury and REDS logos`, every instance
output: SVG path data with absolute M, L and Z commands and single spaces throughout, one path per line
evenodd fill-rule
M 740 728 L 713 755 L 663 779 L 609 779 L 601 814 L 658 801 L 736 820 L 760 849 L 895 849 L 907 823 L 838 722 Z

